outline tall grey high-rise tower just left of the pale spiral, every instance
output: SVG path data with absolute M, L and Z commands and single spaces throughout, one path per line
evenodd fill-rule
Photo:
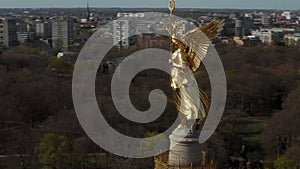
M 52 21 L 52 46 L 59 47 L 62 51 L 67 52 L 69 45 L 73 41 L 73 22 L 71 20 L 54 20 Z

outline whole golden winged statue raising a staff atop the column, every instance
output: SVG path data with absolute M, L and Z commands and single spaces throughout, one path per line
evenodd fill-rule
M 175 103 L 181 119 L 179 129 L 199 130 L 200 122 L 207 116 L 209 101 L 206 94 L 199 89 L 193 72 L 200 67 L 207 54 L 210 42 L 222 31 L 223 20 L 213 20 L 207 25 L 195 28 L 185 34 L 180 41 L 178 26 L 173 18 L 174 0 L 169 3 L 171 24 L 165 26 L 171 35 L 171 87 L 174 91 Z

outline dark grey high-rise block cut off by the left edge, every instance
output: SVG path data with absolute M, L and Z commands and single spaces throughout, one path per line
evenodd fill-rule
M 0 18 L 0 45 L 11 47 L 17 44 L 16 20 L 14 18 Z

